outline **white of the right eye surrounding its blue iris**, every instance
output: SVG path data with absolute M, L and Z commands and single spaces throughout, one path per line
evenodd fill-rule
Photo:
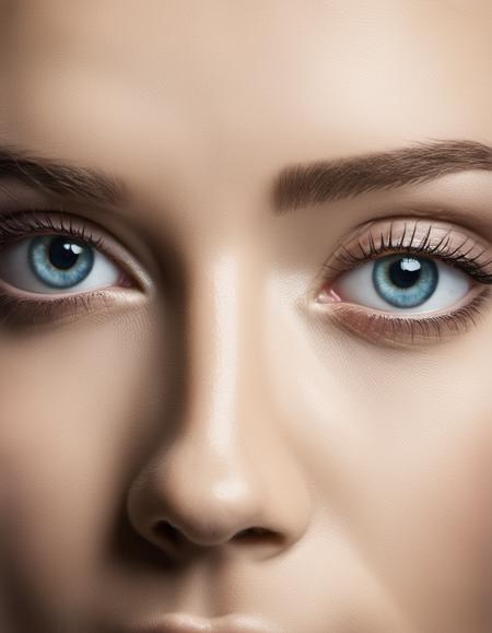
M 401 255 L 400 257 L 405 256 Z M 409 256 L 409 259 L 411 258 Z M 423 259 L 423 257 L 419 258 L 418 256 L 413 256 L 413 258 L 415 260 Z M 453 307 L 468 294 L 472 285 L 471 278 L 466 272 L 434 260 L 438 274 L 434 292 L 420 305 L 398 307 L 386 301 L 376 289 L 373 272 L 377 261 L 380 261 L 380 258 L 358 266 L 339 277 L 333 290 L 342 301 L 398 314 L 422 314 Z M 412 262 L 408 261 L 407 269 L 412 270 L 413 268 Z

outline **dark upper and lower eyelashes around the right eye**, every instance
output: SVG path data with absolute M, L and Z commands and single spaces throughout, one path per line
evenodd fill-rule
M 401 220 L 400 220 L 401 221 Z M 389 230 L 380 230 L 375 236 L 371 227 L 368 228 L 368 247 L 364 247 L 359 237 L 355 243 L 355 248 L 350 249 L 343 245 L 339 247 L 337 253 L 329 261 L 323 265 L 321 277 L 324 284 L 333 282 L 343 272 L 353 270 L 362 263 L 379 259 L 384 255 L 408 255 L 421 256 L 438 259 L 452 267 L 458 268 L 468 273 L 475 281 L 489 285 L 492 284 L 492 272 L 490 272 L 492 265 L 492 257 L 480 261 L 480 258 L 488 251 L 484 247 L 472 257 L 470 253 L 477 247 L 470 237 L 466 237 L 458 246 L 450 246 L 450 234 L 453 228 L 446 232 L 444 237 L 431 247 L 432 234 L 435 225 L 431 224 L 422 239 L 415 239 L 417 222 L 408 244 L 405 243 L 407 237 L 407 223 L 405 223 L 402 236 L 398 239 L 394 235 L 395 221 L 389 223 Z M 466 251 L 464 247 L 467 243 L 471 246 Z M 405 244 L 405 246 L 403 246 Z M 333 266 L 330 261 L 335 259 L 340 266 Z M 461 306 L 454 313 L 438 316 L 427 317 L 409 317 L 397 316 L 391 314 L 383 314 L 374 312 L 367 314 L 368 309 L 364 306 L 335 306 L 335 312 L 340 310 L 342 317 L 351 316 L 355 320 L 355 329 L 362 331 L 363 335 L 368 335 L 376 341 L 386 339 L 389 342 L 406 342 L 414 343 L 417 340 L 424 340 L 429 342 L 432 339 L 441 340 L 446 335 L 458 335 L 466 332 L 470 326 L 477 326 L 478 319 L 483 314 L 488 301 L 492 298 L 492 289 L 485 288 L 483 292 L 475 296 L 475 298 L 467 305 Z M 350 314 L 349 314 L 350 313 Z M 342 318 L 342 323 L 345 321 Z M 350 324 L 349 324 L 350 327 Z

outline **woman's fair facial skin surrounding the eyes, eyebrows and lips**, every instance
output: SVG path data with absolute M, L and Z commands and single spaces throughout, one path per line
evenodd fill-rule
M 2 332 L 0 456 L 23 526 L 14 563 L 56 622 L 49 633 L 69 630 L 67 605 L 92 608 L 87 621 L 144 605 L 259 612 L 289 633 L 487 633 L 491 313 L 452 343 L 391 351 L 298 318 L 295 298 L 336 243 L 399 194 L 279 220 L 269 188 L 296 162 L 492 143 L 490 2 L 17 0 L 0 11 L 2 142 L 115 174 L 128 191 L 118 219 L 85 214 L 151 269 L 169 246 L 188 280 L 190 368 L 173 441 L 163 394 L 178 360 L 162 306 L 84 316 L 44 338 Z M 405 195 L 490 216 L 488 174 L 445 183 Z M 159 468 L 151 453 L 165 454 Z M 296 548 L 266 561 L 233 547 L 229 564 L 211 555 L 180 577 L 110 566 L 102 543 L 130 485 L 132 499 L 161 487 L 163 516 L 177 508 L 200 536 L 198 509 L 239 516 L 239 502 L 220 499 L 245 490 L 242 527 L 279 526 Z M 130 514 L 145 535 L 145 512 Z

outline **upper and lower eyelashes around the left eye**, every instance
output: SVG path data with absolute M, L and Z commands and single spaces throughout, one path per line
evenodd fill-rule
M 42 213 L 42 214 L 40 214 Z M 107 247 L 104 237 L 95 236 L 93 230 L 86 221 L 82 221 L 71 215 L 65 215 L 61 210 L 49 211 L 30 210 L 9 212 L 0 216 L 0 253 L 7 246 L 15 242 L 34 237 L 39 234 L 61 234 L 84 242 L 89 246 L 96 248 L 109 259 L 115 261 L 112 250 Z M 120 262 L 118 262 L 119 266 Z M 130 278 L 126 274 L 125 281 Z M 125 283 L 122 285 L 128 285 Z M 2 321 L 15 323 L 19 325 L 43 323 L 57 317 L 60 313 L 69 312 L 75 314 L 80 308 L 89 313 L 94 301 L 102 301 L 107 305 L 105 292 L 94 290 L 79 294 L 67 294 L 55 298 L 34 298 L 27 296 L 13 296 L 0 289 L 0 318 Z

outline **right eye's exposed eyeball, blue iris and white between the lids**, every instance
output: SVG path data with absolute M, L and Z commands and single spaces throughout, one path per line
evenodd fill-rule
M 342 301 L 405 314 L 454 307 L 471 288 L 471 277 L 456 267 L 408 254 L 363 263 L 332 285 Z

